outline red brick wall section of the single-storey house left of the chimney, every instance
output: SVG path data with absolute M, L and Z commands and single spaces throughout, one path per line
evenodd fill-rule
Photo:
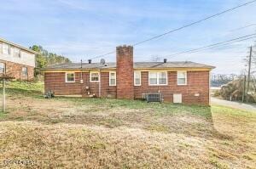
M 101 73 L 101 97 L 116 98 L 116 87 L 109 87 L 109 73 Z M 83 83 L 80 83 L 81 72 L 75 73 L 75 82 L 66 82 L 65 72 L 44 73 L 44 91 L 54 91 L 55 95 L 82 95 L 99 97 L 99 82 L 90 82 L 90 73 L 83 72 Z M 89 87 L 89 90 L 86 90 Z M 90 94 L 88 94 L 90 92 Z

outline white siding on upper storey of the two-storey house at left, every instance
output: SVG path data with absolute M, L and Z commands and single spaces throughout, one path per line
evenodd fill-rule
M 0 59 L 9 61 L 9 62 L 14 62 L 17 64 L 22 64 L 22 65 L 30 65 L 35 67 L 35 54 L 30 54 L 24 50 L 21 49 L 20 51 L 20 58 L 19 57 L 15 57 L 13 53 L 13 51 L 11 52 L 11 54 L 3 54 L 3 50 L 2 50 L 2 42 L 0 42 Z

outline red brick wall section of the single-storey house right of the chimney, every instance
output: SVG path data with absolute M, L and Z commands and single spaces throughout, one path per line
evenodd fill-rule
M 143 93 L 163 93 L 166 102 L 172 102 L 173 93 L 182 93 L 184 104 L 209 104 L 209 71 L 188 71 L 186 86 L 177 85 L 177 71 L 168 71 L 167 86 L 148 86 L 148 71 L 142 71 L 142 85 L 134 88 L 135 98 Z M 195 93 L 200 96 L 196 97 Z

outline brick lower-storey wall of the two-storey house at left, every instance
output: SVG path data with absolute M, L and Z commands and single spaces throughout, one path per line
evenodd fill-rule
M 16 80 L 32 81 L 34 78 L 34 67 L 28 65 L 20 65 L 13 62 L 0 59 L 0 63 L 5 64 L 6 74 L 15 77 Z M 22 76 L 22 67 L 27 68 L 27 76 Z

